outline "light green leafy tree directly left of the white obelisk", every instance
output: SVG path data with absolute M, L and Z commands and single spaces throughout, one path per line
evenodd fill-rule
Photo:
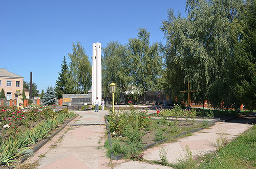
M 73 43 L 73 53 L 68 55 L 71 60 L 68 82 L 73 83 L 75 93 L 88 93 L 92 86 L 92 65 L 81 43 Z

